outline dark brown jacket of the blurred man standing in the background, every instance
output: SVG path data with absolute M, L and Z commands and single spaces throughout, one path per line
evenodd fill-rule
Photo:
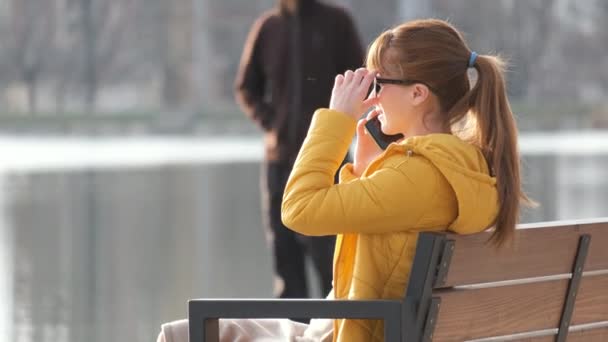
M 266 158 L 293 162 L 317 108 L 329 106 L 335 76 L 363 65 L 350 15 L 316 0 L 256 20 L 235 82 L 243 111 L 265 132 Z

